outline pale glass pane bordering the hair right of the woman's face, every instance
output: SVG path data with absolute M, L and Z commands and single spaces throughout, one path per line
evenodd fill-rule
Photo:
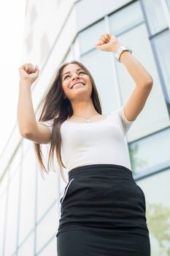
M 112 53 L 93 50 L 82 56 L 82 63 L 88 67 L 98 89 L 103 113 L 115 110 L 119 106 L 117 89 L 112 69 Z

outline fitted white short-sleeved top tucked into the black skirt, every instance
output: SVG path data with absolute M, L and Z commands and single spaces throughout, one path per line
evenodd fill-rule
M 40 121 L 53 129 L 53 119 Z M 61 125 L 61 157 L 66 170 L 94 164 L 123 165 L 131 170 L 125 135 L 134 121 L 125 117 L 123 106 L 101 121 Z

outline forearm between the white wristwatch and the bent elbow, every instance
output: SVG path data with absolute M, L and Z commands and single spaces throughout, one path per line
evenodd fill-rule
M 133 54 L 128 51 L 123 52 L 120 56 L 120 61 L 125 65 L 136 86 L 152 85 L 152 76 Z

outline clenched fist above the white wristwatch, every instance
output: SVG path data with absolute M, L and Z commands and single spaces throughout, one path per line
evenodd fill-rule
M 103 34 L 103 35 L 101 35 L 99 41 L 94 45 L 99 50 L 116 53 L 118 48 L 122 44 L 120 42 L 118 42 L 117 38 L 115 36 L 113 36 L 112 34 Z

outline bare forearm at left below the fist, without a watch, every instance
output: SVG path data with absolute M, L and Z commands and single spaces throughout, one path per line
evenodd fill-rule
M 31 99 L 31 83 L 20 80 L 18 95 L 18 127 L 20 134 L 25 136 L 36 128 L 36 116 Z

